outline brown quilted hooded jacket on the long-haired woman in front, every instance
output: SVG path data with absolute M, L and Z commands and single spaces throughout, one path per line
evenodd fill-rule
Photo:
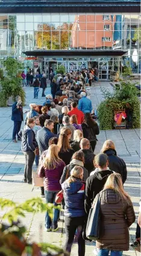
M 113 189 L 104 189 L 101 197 L 101 232 L 96 240 L 96 248 L 113 251 L 128 251 L 128 228 L 135 221 L 133 204 L 121 199 Z M 93 202 L 93 206 L 97 196 Z

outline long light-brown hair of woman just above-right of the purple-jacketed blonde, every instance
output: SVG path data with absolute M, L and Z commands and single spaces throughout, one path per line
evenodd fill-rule
M 71 130 L 69 128 L 61 128 L 60 130 L 60 135 L 58 137 L 58 149 L 59 152 L 61 151 L 68 151 L 70 149 L 70 143 L 69 143 L 69 138 L 67 137 L 68 135 L 72 134 Z

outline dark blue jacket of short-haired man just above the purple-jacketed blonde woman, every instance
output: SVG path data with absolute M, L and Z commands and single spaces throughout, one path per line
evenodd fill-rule
M 51 133 L 51 131 L 46 127 L 43 127 L 37 131 L 37 143 L 39 145 L 40 156 L 42 155 L 43 151 L 48 149 L 48 142 L 52 137 L 58 137 L 58 135 Z

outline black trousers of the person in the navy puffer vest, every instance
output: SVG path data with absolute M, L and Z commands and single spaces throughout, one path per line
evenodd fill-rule
M 64 250 L 71 252 L 72 243 L 74 241 L 75 232 L 77 230 L 78 236 L 78 256 L 85 255 L 85 240 L 83 239 L 85 217 L 65 217 L 65 231 L 66 231 L 66 243 Z

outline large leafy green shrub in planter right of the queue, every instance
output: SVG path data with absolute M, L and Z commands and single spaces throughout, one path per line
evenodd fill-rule
M 113 93 L 101 88 L 104 101 L 98 106 L 99 128 L 111 130 L 114 126 L 114 111 L 131 109 L 132 126 L 140 128 L 140 102 L 137 97 L 137 88 L 131 81 L 121 81 L 119 88 L 114 88 Z

